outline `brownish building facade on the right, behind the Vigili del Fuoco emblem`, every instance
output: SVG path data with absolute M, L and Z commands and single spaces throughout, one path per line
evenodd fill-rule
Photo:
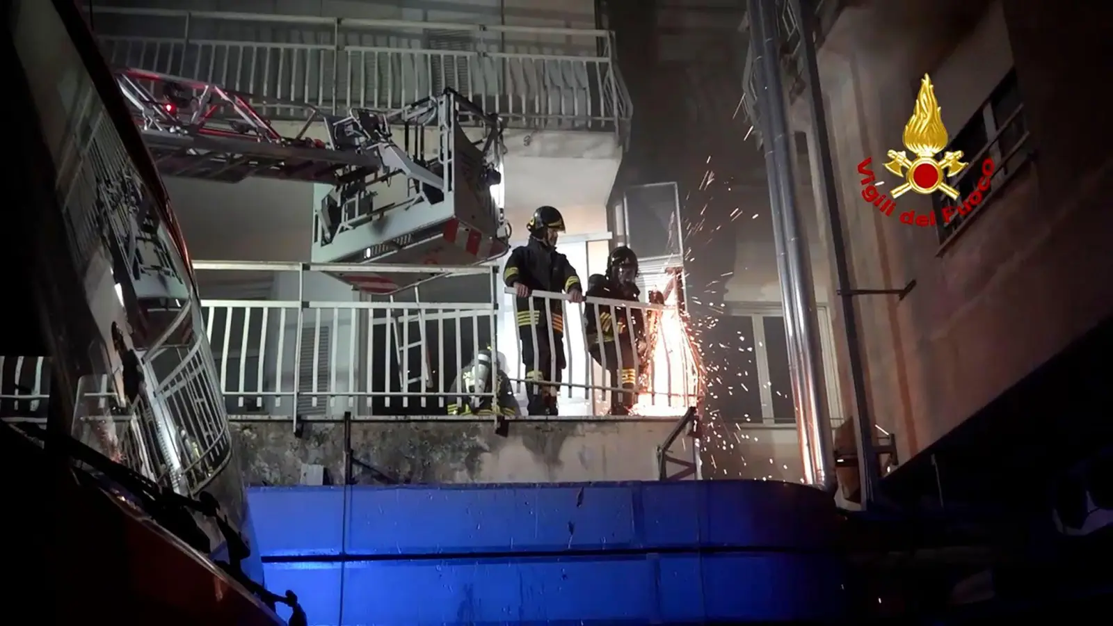
M 837 288 L 910 287 L 903 296 L 860 295 L 854 304 L 868 413 L 895 434 L 900 459 L 926 457 L 1113 312 L 1109 282 L 1093 280 L 1113 265 L 1105 243 L 1113 217 L 1103 208 L 1111 159 L 1099 148 L 1110 124 L 1087 113 L 1099 110 L 1099 96 L 1080 87 L 1109 65 L 1097 53 L 1101 20 L 1023 1 L 930 10 L 923 2 L 885 10 L 825 4 L 834 19 L 821 32 L 818 62 L 841 213 L 833 226 L 847 242 L 851 281 Z M 896 209 L 879 211 L 866 190 L 869 172 L 880 194 L 902 183 L 883 166 L 890 150 L 905 149 L 902 135 L 925 74 L 942 107 L 945 150 L 962 150 L 969 163 L 949 179 L 959 200 L 909 193 Z M 791 123 L 809 139 L 811 163 L 801 168 L 815 177 L 824 157 L 807 98 L 790 92 L 789 99 Z M 983 170 L 987 159 L 991 176 Z M 979 202 L 946 219 L 947 207 L 975 190 Z M 820 189 L 814 197 L 821 209 Z M 840 314 L 835 307 L 836 327 Z M 845 339 L 836 345 L 843 403 L 854 415 Z M 1107 371 L 1100 363 L 1083 371 L 1092 368 Z M 1080 378 L 1075 392 L 1085 388 Z M 1003 426 L 994 437 L 1042 433 L 1046 447 L 1066 446 L 1071 438 L 1050 427 L 1078 430 L 1065 426 L 1077 418 L 1067 405 L 1061 399 L 1067 414 L 1043 418 L 1013 405 L 1017 434 Z M 1031 420 L 1036 426 L 1022 429 Z M 987 441 L 977 446 L 992 448 Z

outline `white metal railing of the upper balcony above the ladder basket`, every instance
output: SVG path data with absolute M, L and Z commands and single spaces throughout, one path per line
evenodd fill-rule
M 116 66 L 333 113 L 400 108 L 452 88 L 510 126 L 620 140 L 631 115 L 605 30 L 100 6 L 92 14 Z

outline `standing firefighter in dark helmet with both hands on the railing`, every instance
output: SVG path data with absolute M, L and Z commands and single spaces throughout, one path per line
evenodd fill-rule
M 551 206 L 539 207 L 526 228 L 529 243 L 510 253 L 502 276 L 516 296 L 514 310 L 525 364 L 528 413 L 555 415 L 559 388 L 539 382 L 560 383 L 567 365 L 562 301 L 530 297 L 530 294 L 568 292 L 572 302 L 583 302 L 583 288 L 568 258 L 556 252 L 556 238 L 564 232 L 560 212 Z

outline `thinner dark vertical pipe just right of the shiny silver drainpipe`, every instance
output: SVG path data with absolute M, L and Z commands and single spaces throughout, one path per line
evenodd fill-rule
M 875 497 L 880 471 L 874 450 L 874 421 L 869 415 L 869 400 L 866 398 L 863 373 L 861 345 L 858 342 L 858 320 L 854 307 L 854 296 L 847 291 L 850 285 L 850 270 L 846 257 L 846 241 L 843 238 L 843 217 L 835 192 L 835 168 L 831 164 L 830 140 L 827 136 L 827 116 L 824 113 L 824 96 L 819 84 L 819 62 L 816 59 L 815 7 L 812 2 L 789 0 L 796 13 L 800 31 L 800 55 L 804 59 L 808 81 L 808 113 L 811 118 L 812 141 L 809 143 L 809 158 L 816 164 L 819 176 L 812 185 L 819 192 L 818 200 L 827 209 L 830 228 L 831 254 L 835 257 L 836 293 L 839 294 L 841 317 L 846 332 L 846 360 L 850 368 L 850 384 L 854 387 L 855 434 L 858 444 L 858 477 L 861 482 L 861 506 L 868 508 Z

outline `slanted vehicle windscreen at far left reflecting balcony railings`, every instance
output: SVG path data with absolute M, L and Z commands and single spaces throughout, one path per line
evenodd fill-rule
M 21 49 L 20 55 L 40 48 Z M 106 86 L 96 84 L 76 61 L 63 63 L 58 72 L 53 85 L 65 101 L 57 111 L 65 133 L 55 141 L 60 150 L 56 197 L 65 205 L 71 265 L 86 278 L 86 295 L 93 303 L 83 313 L 88 324 L 82 332 L 90 334 L 82 336 L 81 350 L 95 373 L 77 381 L 78 389 L 66 389 L 77 393 L 71 434 L 97 443 L 86 440 L 82 424 L 102 423 L 99 430 L 110 432 L 117 420 L 139 420 L 148 430 L 132 442 L 152 462 L 122 452 L 119 461 L 193 495 L 217 478 L 232 456 L 232 444 L 213 359 L 195 326 L 200 315 L 183 251 L 176 245 L 178 233 L 164 211 L 151 208 L 157 202 L 136 170 L 136 155 L 128 153 L 106 114 L 100 91 Z M 41 369 L 41 360 L 37 366 Z M 108 384 L 109 378 L 114 384 Z M 110 415 L 99 402 L 90 408 L 85 397 L 87 391 L 106 393 L 109 388 L 122 397 L 125 387 L 131 398 L 117 401 Z M 43 399 L 30 395 L 23 403 L 30 413 L 12 419 L 45 418 L 31 408 Z M 117 457 L 112 450 L 104 451 Z

